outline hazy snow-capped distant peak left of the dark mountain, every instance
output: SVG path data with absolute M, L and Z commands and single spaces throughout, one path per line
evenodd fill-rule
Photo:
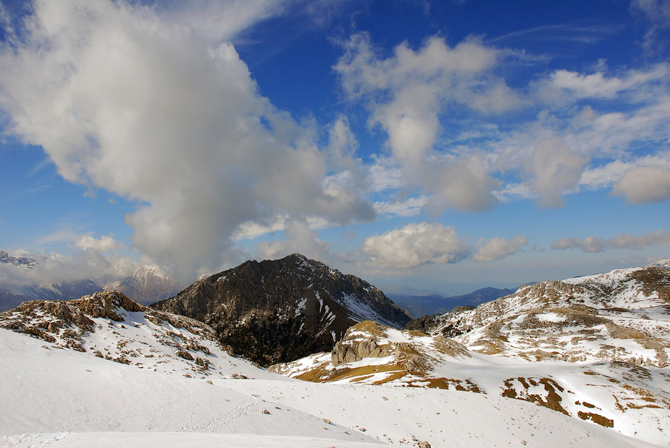
M 120 291 L 140 303 L 153 303 L 175 296 L 182 288 L 158 268 L 142 266 L 128 277 L 105 282 L 104 289 Z

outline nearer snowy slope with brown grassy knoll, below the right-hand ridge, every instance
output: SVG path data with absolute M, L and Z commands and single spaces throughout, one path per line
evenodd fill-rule
M 379 386 L 383 395 L 388 388 L 411 387 L 505 397 L 510 402 L 505 407 L 522 400 L 661 446 L 670 440 L 667 369 L 530 362 L 470 352 L 441 335 L 363 322 L 352 327 L 332 353 L 271 370 L 317 383 Z

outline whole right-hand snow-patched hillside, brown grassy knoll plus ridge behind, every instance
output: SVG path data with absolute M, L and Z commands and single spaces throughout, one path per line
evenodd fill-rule
M 662 263 L 524 286 L 418 324 L 433 336 L 364 322 L 332 352 L 271 370 L 514 398 L 670 441 L 670 270 Z

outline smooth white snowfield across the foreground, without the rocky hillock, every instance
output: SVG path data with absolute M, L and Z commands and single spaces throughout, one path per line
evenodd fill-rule
M 187 378 L 4 329 L 0 357 L 1 446 L 651 446 L 497 396 Z

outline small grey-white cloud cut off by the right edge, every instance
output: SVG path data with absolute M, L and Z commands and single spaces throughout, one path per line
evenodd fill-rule
M 670 170 L 650 166 L 631 168 L 612 186 L 612 194 L 624 196 L 629 204 L 664 201 L 670 198 Z

